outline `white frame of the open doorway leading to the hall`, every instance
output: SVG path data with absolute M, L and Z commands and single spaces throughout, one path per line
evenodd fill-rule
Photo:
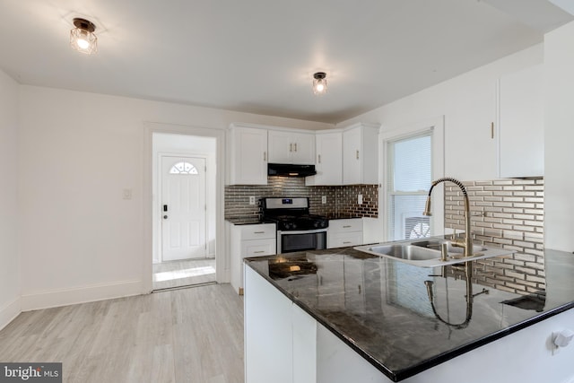
M 187 126 L 178 124 L 144 122 L 143 123 L 143 256 L 142 256 L 142 292 L 150 293 L 153 290 L 153 229 L 152 229 L 152 156 L 153 134 L 167 133 L 174 135 L 196 135 L 215 138 L 216 156 L 215 169 L 215 281 L 217 283 L 229 282 L 229 262 L 225 246 L 225 129 Z

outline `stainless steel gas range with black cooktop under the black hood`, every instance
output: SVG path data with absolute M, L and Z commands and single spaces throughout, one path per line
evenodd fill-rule
M 309 213 L 308 197 L 268 197 L 261 201 L 263 222 L 277 225 L 277 254 L 326 248 L 326 217 Z

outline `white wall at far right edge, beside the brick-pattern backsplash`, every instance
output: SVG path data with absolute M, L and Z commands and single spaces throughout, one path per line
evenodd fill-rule
M 544 37 L 544 245 L 574 251 L 574 22 Z

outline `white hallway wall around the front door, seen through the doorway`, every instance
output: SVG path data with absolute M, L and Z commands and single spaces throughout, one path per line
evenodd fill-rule
M 161 154 L 181 154 L 181 155 L 199 155 L 205 157 L 207 166 L 206 175 L 206 204 L 207 204 L 207 255 L 209 257 L 215 256 L 215 196 L 216 196 L 216 139 L 213 137 L 198 137 L 196 135 L 170 135 L 170 134 L 153 134 L 152 143 L 152 222 L 153 222 L 153 262 L 161 262 L 161 201 L 159 199 L 161 185 L 158 178 L 159 172 L 159 158 Z

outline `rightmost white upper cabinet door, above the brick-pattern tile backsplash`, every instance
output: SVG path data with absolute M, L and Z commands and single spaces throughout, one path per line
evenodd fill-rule
M 544 176 L 543 65 L 500 78 L 500 178 Z

